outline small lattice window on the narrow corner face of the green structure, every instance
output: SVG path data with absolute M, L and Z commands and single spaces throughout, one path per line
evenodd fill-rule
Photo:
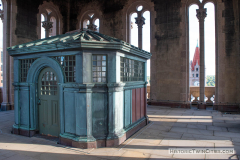
M 92 61 L 93 82 L 107 82 L 107 56 L 93 55 Z

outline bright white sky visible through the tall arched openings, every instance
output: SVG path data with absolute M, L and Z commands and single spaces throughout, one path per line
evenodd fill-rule
M 1 1 L 0 1 L 1 2 Z M 189 8 L 189 51 L 190 60 L 193 59 L 197 41 L 199 40 L 199 24 L 196 17 L 197 5 L 192 5 Z M 206 75 L 215 75 L 215 21 L 214 21 L 214 5 L 212 3 L 207 3 L 205 5 L 207 8 L 207 17 L 205 18 L 205 68 Z M 135 17 L 137 14 L 134 13 L 131 16 L 131 21 L 133 22 L 133 29 L 131 30 L 131 44 L 138 46 L 138 29 L 135 24 Z M 143 25 L 143 49 L 150 52 L 150 13 L 144 12 L 143 17 L 145 17 L 145 25 Z M 2 31 L 2 21 L 0 20 L 0 33 Z M 44 33 L 44 32 L 42 32 Z M 44 34 L 42 35 L 45 36 Z M 0 47 L 2 48 L 2 34 L 0 34 Z M 150 76 L 150 60 L 147 63 L 147 76 Z

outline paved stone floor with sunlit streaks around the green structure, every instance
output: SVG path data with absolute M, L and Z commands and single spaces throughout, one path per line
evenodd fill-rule
M 0 112 L 0 160 L 238 159 L 240 115 L 149 106 L 151 123 L 116 148 L 78 149 L 11 134 L 14 112 Z M 168 148 L 234 148 L 234 154 L 169 154 Z

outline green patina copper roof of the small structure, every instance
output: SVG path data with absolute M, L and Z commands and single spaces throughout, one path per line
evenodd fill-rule
M 91 30 L 77 30 L 62 35 L 9 47 L 8 53 L 17 56 L 29 53 L 40 53 L 65 49 L 115 49 L 132 53 L 144 58 L 150 58 L 151 53 L 146 52 L 122 40 L 94 32 Z

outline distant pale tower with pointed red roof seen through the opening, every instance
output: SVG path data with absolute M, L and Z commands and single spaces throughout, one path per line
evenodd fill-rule
M 189 81 L 190 86 L 199 86 L 200 76 L 199 65 L 200 65 L 200 50 L 197 42 L 193 60 L 190 62 L 190 81 Z

